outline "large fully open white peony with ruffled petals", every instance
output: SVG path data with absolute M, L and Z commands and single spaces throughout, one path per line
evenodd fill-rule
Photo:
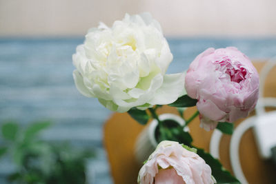
M 169 104 L 184 90 L 184 73 L 165 74 L 172 54 L 148 13 L 126 14 L 111 28 L 100 23 L 88 31 L 72 59 L 79 92 L 112 111 Z

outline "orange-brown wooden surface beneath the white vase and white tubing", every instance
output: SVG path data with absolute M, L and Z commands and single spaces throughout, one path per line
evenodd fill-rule
M 254 63 L 257 70 L 261 70 L 264 63 Z M 268 75 L 266 81 L 265 96 L 276 97 L 276 69 Z M 196 108 L 188 108 L 185 112 L 185 118 L 195 112 Z M 159 109 L 158 114 L 174 113 L 177 114 L 175 108 L 164 106 Z M 250 115 L 253 115 L 252 112 Z M 239 125 L 240 119 L 235 123 Z M 145 126 L 139 125 L 127 113 L 112 114 L 110 119 L 106 121 L 103 128 L 103 143 L 108 152 L 108 160 L 110 163 L 110 170 L 115 184 L 131 184 L 137 183 L 137 175 L 141 167 L 140 163 L 136 163 L 134 157 L 134 145 L 138 134 Z M 209 150 L 210 136 L 213 131 L 206 132 L 199 127 L 199 119 L 196 118 L 189 125 L 190 134 L 193 136 L 193 145 Z M 221 163 L 227 170 L 232 172 L 229 159 L 229 145 L 230 136 L 224 135 L 220 143 Z M 239 156 L 242 164 L 244 174 L 251 184 L 275 184 L 276 183 L 276 169 L 270 161 L 263 161 L 259 158 L 255 138 L 252 130 L 248 130 L 242 138 Z

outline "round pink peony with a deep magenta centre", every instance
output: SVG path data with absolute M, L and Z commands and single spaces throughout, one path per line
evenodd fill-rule
M 185 78 L 188 96 L 197 99 L 201 127 L 233 123 L 248 116 L 259 94 L 259 75 L 237 48 L 208 48 L 190 64 Z

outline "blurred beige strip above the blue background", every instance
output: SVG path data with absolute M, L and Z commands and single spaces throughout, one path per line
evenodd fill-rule
M 275 0 L 0 0 L 0 37 L 83 35 L 126 12 L 150 12 L 168 36 L 276 36 Z

